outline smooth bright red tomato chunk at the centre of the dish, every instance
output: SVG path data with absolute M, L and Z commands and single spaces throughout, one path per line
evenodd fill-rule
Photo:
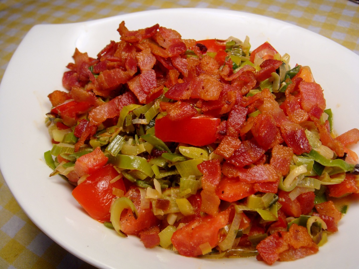
M 163 142 L 187 143 L 205 146 L 216 141 L 216 131 L 221 120 L 206 115 L 171 121 L 167 116 L 156 119 L 155 136 Z

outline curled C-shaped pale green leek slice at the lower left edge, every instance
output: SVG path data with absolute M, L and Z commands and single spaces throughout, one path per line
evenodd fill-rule
M 110 208 L 110 213 L 111 213 L 111 217 L 110 217 L 110 221 L 113 225 L 113 228 L 115 228 L 115 231 L 123 236 L 123 237 L 127 237 L 126 233 L 124 233 L 121 229 L 121 213 L 123 211 L 123 209 L 130 209 L 132 211 L 132 213 L 134 214 L 134 217 L 137 219 L 138 217 L 138 212 L 137 209 L 134 205 L 134 203 L 128 198 L 128 197 L 120 197 L 117 198 L 111 205 Z

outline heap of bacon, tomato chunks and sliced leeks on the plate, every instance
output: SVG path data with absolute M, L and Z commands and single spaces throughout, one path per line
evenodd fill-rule
M 185 256 L 314 254 L 356 195 L 359 130 L 334 136 L 308 66 L 269 43 L 129 30 L 96 58 L 75 50 L 48 95 L 51 176 L 88 214 Z

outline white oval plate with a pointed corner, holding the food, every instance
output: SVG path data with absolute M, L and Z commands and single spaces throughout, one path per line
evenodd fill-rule
M 96 57 L 110 40 L 119 40 L 118 24 L 130 30 L 156 23 L 183 38 L 250 37 L 252 48 L 269 41 L 295 63 L 309 65 L 334 111 L 338 133 L 359 127 L 359 56 L 339 44 L 295 25 L 264 16 L 211 9 L 162 9 L 92 22 L 37 25 L 14 53 L 0 86 L 0 165 L 14 197 L 31 220 L 62 247 L 101 268 L 268 268 L 255 258 L 186 258 L 160 247 L 145 249 L 136 237 L 123 239 L 92 220 L 71 196 L 72 187 L 51 173 L 43 152 L 51 148 L 44 120 L 47 95 L 61 90 L 61 77 L 75 47 Z M 358 146 L 354 147 L 359 152 Z M 349 207 L 339 232 L 316 255 L 276 268 L 353 268 L 357 264 L 357 205 Z

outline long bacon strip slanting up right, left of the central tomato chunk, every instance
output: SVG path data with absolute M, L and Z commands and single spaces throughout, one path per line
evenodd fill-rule
M 136 103 L 136 97 L 131 92 L 126 92 L 92 109 L 88 117 L 91 123 L 98 125 L 108 118 L 118 116 L 124 106 Z

